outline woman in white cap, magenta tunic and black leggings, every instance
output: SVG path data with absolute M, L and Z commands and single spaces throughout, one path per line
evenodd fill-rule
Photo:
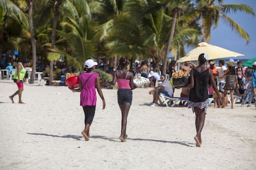
M 103 97 L 103 92 L 100 87 L 100 78 L 98 73 L 94 73 L 95 65 L 92 59 L 85 61 L 85 73 L 79 75 L 79 89 L 72 91 L 80 92 L 80 105 L 83 107 L 83 112 L 85 113 L 85 128 L 81 132 L 86 141 L 90 138 L 90 126 L 92 125 L 93 118 L 95 115 L 96 108 L 96 90 L 100 95 L 103 102 L 103 109 L 105 109 L 106 103 Z

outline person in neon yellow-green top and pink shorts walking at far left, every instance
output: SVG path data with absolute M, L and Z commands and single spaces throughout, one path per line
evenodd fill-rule
M 28 65 L 28 60 L 23 59 L 22 62 L 19 62 L 17 67 L 15 68 L 15 73 L 14 73 L 14 82 L 18 86 L 18 90 L 14 92 L 14 94 L 10 95 L 9 98 L 11 99 L 12 103 L 14 103 L 14 97 L 15 95 L 19 95 L 19 103 L 20 104 L 25 104 L 22 101 L 22 92 L 23 92 L 23 87 L 24 87 L 24 81 L 25 81 L 25 74 L 26 70 L 25 67 Z

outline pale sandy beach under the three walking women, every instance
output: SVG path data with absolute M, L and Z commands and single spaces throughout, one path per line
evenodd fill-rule
M 98 97 L 90 140 L 81 131 L 80 94 L 66 86 L 0 82 L 0 169 L 256 169 L 256 107 L 208 107 L 202 147 L 195 147 L 195 115 L 187 107 L 150 107 L 150 88 L 133 91 L 127 142 L 120 142 L 117 90 Z M 176 91 L 174 95 L 179 95 Z

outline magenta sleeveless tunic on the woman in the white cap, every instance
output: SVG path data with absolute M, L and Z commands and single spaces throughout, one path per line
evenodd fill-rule
M 90 75 L 92 76 L 89 78 Z M 96 106 L 97 98 L 96 98 L 95 82 L 97 77 L 98 77 L 98 73 L 82 73 L 81 75 L 79 75 L 79 80 L 82 82 L 82 86 L 84 84 L 80 92 L 81 106 Z M 87 81 L 86 84 L 85 84 L 85 81 Z

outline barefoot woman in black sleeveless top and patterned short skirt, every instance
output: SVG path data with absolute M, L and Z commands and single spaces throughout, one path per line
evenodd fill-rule
M 207 55 L 200 54 L 198 57 L 198 66 L 190 70 L 190 84 L 184 86 L 190 89 L 188 108 L 192 108 L 192 111 L 195 113 L 195 128 L 197 134 L 194 140 L 196 147 L 201 147 L 202 145 L 201 132 L 205 123 L 205 115 L 208 107 L 209 80 L 218 96 L 218 100 L 221 100 L 213 72 L 207 68 Z

